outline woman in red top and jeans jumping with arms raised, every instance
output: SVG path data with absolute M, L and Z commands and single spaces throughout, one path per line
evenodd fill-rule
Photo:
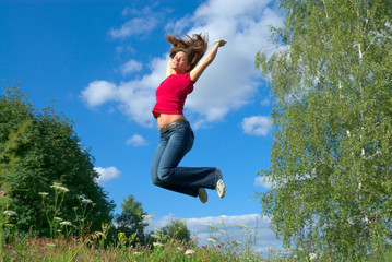
M 215 189 L 224 198 L 226 186 L 222 171 L 215 167 L 178 167 L 182 157 L 192 148 L 194 134 L 182 110 L 194 83 L 215 59 L 225 40 L 216 40 L 207 56 L 198 63 L 207 49 L 207 40 L 201 34 L 177 38 L 167 35 L 171 43 L 166 79 L 156 90 L 156 104 L 152 110 L 157 120 L 161 140 L 151 167 L 151 181 L 158 187 L 179 193 L 199 196 L 207 201 L 205 189 Z

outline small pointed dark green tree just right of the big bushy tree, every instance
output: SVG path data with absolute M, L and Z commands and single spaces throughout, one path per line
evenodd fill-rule
M 124 238 L 131 237 L 131 245 L 134 245 L 136 241 L 145 245 L 146 238 L 144 235 L 144 228 L 149 224 L 144 221 L 147 213 L 143 211 L 142 203 L 135 201 L 134 196 L 130 194 L 127 199 L 123 199 L 121 207 L 121 214 L 116 217 L 117 234 L 123 234 Z

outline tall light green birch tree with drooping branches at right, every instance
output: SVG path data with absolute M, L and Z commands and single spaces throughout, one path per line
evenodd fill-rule
M 391 242 L 392 2 L 282 0 L 271 83 L 276 132 L 263 214 L 286 245 L 345 260 Z

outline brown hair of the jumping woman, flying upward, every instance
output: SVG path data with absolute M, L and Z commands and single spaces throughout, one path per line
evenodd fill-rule
M 171 58 L 174 58 L 178 51 L 187 53 L 188 63 L 191 66 L 189 71 L 198 64 L 209 46 L 209 37 L 202 34 L 193 34 L 192 37 L 185 35 L 182 38 L 168 34 L 165 38 L 171 43 Z

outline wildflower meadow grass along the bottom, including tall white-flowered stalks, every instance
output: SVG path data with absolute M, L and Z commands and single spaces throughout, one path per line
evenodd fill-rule
M 58 191 L 58 206 L 61 206 L 61 198 L 66 189 L 61 184 L 55 184 L 52 189 Z M 43 194 L 43 203 L 47 194 Z M 55 194 L 56 195 L 56 194 Z M 162 234 L 150 235 L 150 241 L 143 246 L 135 243 L 135 236 L 126 236 L 119 233 L 114 239 L 107 239 L 114 225 L 102 225 L 100 231 L 84 234 L 83 223 L 73 226 L 73 230 L 60 227 L 56 221 L 58 212 L 48 213 L 48 226 L 52 227 L 52 235 L 49 238 L 39 238 L 33 235 L 22 235 L 12 230 L 12 225 L 7 222 L 10 216 L 17 215 L 7 210 L 7 196 L 0 195 L 0 262 L 8 261 L 338 261 L 331 251 L 316 253 L 311 242 L 297 242 L 296 247 L 289 250 L 270 249 L 268 253 L 257 251 L 259 233 L 251 230 L 247 225 L 238 224 L 241 231 L 239 239 L 230 237 L 225 230 L 224 223 L 218 224 L 222 228 L 206 225 L 210 230 L 210 238 L 206 245 L 199 245 L 194 236 L 190 241 L 181 241 L 174 237 Z M 84 201 L 86 202 L 86 201 Z M 91 204 L 91 203 L 85 203 Z M 44 204 L 45 206 L 45 204 Z M 88 209 L 82 209 L 81 214 L 87 215 Z M 78 219 L 84 221 L 80 216 Z M 78 224 L 78 223 L 75 223 Z M 8 228 L 8 227 L 11 227 Z M 4 237 L 3 229 L 8 235 Z M 78 235 L 78 233 L 82 233 Z M 72 233 L 72 234 L 71 234 Z M 132 245 L 133 243 L 133 245 Z M 388 248 L 379 249 L 365 258 L 347 258 L 345 261 L 392 261 L 392 251 Z

